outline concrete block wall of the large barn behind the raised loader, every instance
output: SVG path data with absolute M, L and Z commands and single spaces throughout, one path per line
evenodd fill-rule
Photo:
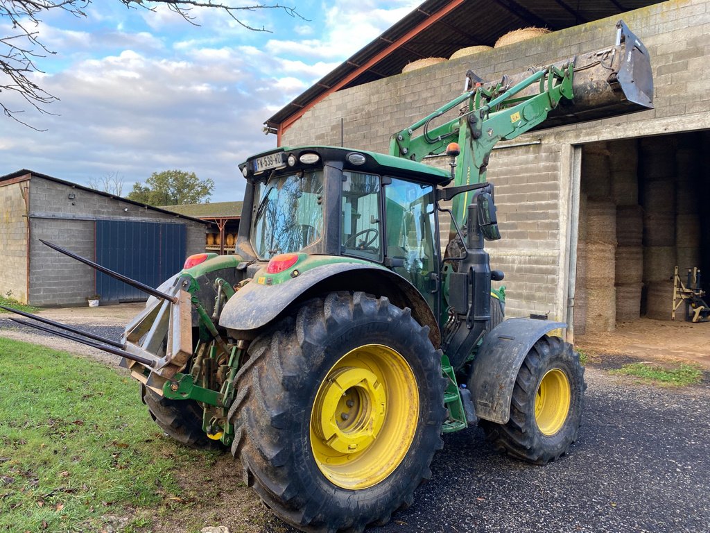
M 710 129 L 710 3 L 667 1 L 335 92 L 290 126 L 282 144 L 339 145 L 343 118 L 345 146 L 386 152 L 393 132 L 460 94 L 469 68 L 484 79 L 498 80 L 530 65 L 598 50 L 613 44 L 620 18 L 650 52 L 655 109 L 525 134 L 508 143 L 525 146 L 499 144 L 488 167 L 503 234 L 489 250 L 494 267 L 506 271 L 507 314 L 550 311 L 550 318 L 565 320 L 566 302 L 573 296 L 566 289 L 567 239 L 575 220 L 570 191 L 577 190 L 572 182 L 579 179 L 572 173 L 572 146 Z M 440 158 L 435 164 L 442 165 Z M 447 232 L 444 219 L 442 230 Z

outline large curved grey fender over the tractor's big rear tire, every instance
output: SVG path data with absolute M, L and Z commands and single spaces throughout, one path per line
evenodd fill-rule
M 229 330 L 256 330 L 271 323 L 300 298 L 331 291 L 364 291 L 387 296 L 395 306 L 411 308 L 415 320 L 429 326 L 429 338 L 435 348 L 441 342 L 434 313 L 419 291 L 399 274 L 366 263 L 325 264 L 280 284 L 251 281 L 229 298 L 219 317 L 219 325 Z

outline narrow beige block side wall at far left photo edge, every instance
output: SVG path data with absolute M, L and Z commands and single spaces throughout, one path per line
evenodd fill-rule
M 28 181 L 0 185 L 0 296 L 27 303 Z

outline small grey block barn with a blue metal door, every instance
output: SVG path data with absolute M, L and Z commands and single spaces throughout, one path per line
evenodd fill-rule
M 66 257 L 45 239 L 158 286 L 204 250 L 209 222 L 20 170 L 0 177 L 0 294 L 33 306 L 141 301 L 138 289 Z

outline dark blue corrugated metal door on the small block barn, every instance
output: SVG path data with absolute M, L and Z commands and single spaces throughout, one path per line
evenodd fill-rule
M 157 287 L 182 269 L 185 225 L 97 220 L 96 261 Z M 101 272 L 96 273 L 96 291 L 103 301 L 140 301 L 148 297 L 143 291 Z

